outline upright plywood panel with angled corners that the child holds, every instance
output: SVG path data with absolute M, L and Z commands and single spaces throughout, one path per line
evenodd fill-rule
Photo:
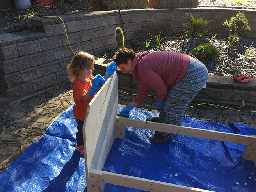
M 90 186 L 90 170 L 102 169 L 114 142 L 117 103 L 118 77 L 114 73 L 89 103 L 86 112 L 83 136 L 87 186 Z

